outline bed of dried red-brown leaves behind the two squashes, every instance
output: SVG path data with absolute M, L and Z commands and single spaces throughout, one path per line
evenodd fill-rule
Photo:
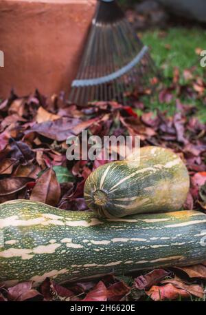
M 161 94 L 164 91 L 161 91 Z M 160 96 L 161 96 L 160 94 Z M 12 199 L 42 201 L 65 210 L 86 210 L 84 182 L 98 166 L 108 161 L 68 161 L 68 136 L 139 135 L 141 146 L 160 145 L 181 156 L 191 176 L 185 209 L 206 208 L 206 125 L 194 108 L 176 101 L 177 112 L 146 112 L 118 103 L 95 103 L 87 108 L 50 103 L 35 95 L 0 104 L 0 202 Z M 118 152 L 117 152 L 118 153 Z

